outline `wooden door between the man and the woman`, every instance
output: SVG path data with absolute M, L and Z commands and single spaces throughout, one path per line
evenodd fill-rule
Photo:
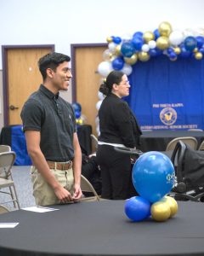
M 103 52 L 107 49 L 106 44 L 79 45 L 75 47 L 75 96 L 73 101 L 82 105 L 82 114 L 87 117 L 88 125 L 92 125 L 96 134 L 95 119 L 98 114 L 96 103 L 99 102 L 99 85 L 101 76 L 97 72 L 99 63 L 103 61 Z

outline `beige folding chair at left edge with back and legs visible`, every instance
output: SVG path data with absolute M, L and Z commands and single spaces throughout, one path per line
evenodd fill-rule
M 3 201 L 2 204 L 13 201 L 14 207 L 20 209 L 20 203 L 18 196 L 16 194 L 14 180 L 11 173 L 11 168 L 14 165 L 16 154 L 13 151 L 5 152 L 0 154 L 0 193 L 7 194 L 11 196 L 11 200 Z M 8 191 L 1 190 L 8 188 Z

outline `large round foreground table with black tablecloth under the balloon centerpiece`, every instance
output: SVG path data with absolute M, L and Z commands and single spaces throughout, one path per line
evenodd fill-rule
M 178 213 L 166 222 L 133 223 L 124 201 L 81 202 L 55 206 L 59 211 L 15 211 L 0 222 L 0 255 L 203 255 L 204 204 L 178 201 Z M 199 254 L 200 253 L 200 254 Z

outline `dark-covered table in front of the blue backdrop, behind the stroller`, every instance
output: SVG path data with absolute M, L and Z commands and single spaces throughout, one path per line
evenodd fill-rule
M 143 131 L 140 137 L 141 150 L 165 151 L 167 144 L 175 137 L 195 137 L 199 146 L 204 139 L 204 131 Z

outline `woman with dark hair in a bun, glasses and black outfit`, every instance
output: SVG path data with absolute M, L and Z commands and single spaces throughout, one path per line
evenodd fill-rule
M 100 85 L 106 97 L 99 108 L 99 147 L 97 162 L 102 176 L 102 198 L 127 199 L 132 176 L 131 160 L 114 147 L 135 148 L 142 134 L 139 125 L 123 96 L 129 95 L 127 75 L 112 71 Z

